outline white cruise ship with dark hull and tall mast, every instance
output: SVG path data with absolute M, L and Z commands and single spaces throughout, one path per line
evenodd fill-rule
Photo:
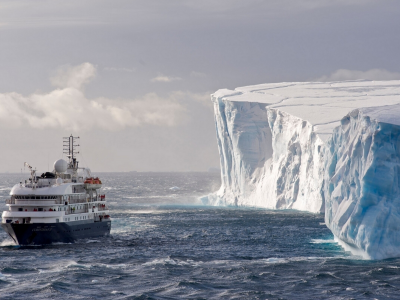
M 40 176 L 25 163 L 30 178 L 16 184 L 6 200 L 8 210 L 3 211 L 1 226 L 17 245 L 73 243 L 110 234 L 102 182 L 90 169 L 78 167 L 75 149 L 79 137 L 63 139 L 69 161 L 57 160 L 53 172 Z

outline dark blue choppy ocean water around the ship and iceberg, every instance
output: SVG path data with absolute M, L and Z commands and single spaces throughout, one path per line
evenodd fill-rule
M 0 299 L 400 299 L 400 259 L 351 256 L 322 215 L 204 207 L 219 174 L 98 175 L 112 235 L 17 247 L 1 231 Z M 0 175 L 2 210 L 19 181 Z

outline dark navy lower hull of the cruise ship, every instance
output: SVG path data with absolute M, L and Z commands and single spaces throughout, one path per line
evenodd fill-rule
M 77 239 L 109 235 L 111 220 L 102 222 L 76 221 L 68 223 L 5 224 L 1 227 L 18 245 L 73 243 Z

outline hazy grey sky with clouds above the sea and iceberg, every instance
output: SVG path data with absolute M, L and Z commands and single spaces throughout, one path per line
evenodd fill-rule
M 400 79 L 397 0 L 0 0 L 0 172 L 219 167 L 210 94 Z

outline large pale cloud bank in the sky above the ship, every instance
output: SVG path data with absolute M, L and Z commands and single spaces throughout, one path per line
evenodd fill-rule
M 49 93 L 0 93 L 1 126 L 120 130 L 143 125 L 175 126 L 185 116 L 186 108 L 181 104 L 187 97 L 184 92 L 166 98 L 149 93 L 137 99 L 88 99 L 83 87 L 95 74 L 96 68 L 90 63 L 63 66 L 51 78 L 60 88 Z

